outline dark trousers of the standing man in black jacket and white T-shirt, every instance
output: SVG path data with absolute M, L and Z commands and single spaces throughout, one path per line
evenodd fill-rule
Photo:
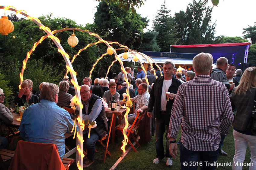
M 164 151 L 164 134 L 165 129 L 167 131 L 165 138 L 166 138 L 166 146 Z M 155 118 L 155 150 L 156 150 L 156 157 L 160 160 L 164 159 L 166 156 L 167 158 L 171 158 L 169 152 L 169 138 L 168 135 L 169 126 L 165 125 L 165 115 L 161 115 L 160 118 Z

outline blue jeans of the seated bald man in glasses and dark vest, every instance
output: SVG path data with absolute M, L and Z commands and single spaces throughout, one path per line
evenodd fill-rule
M 88 137 L 88 135 L 85 135 L 85 137 Z M 98 134 L 90 133 L 90 138 L 87 138 L 83 145 L 83 147 L 85 147 L 87 150 L 87 158 L 92 161 L 94 161 L 95 159 L 95 152 L 96 152 L 95 144 L 99 139 L 100 137 Z

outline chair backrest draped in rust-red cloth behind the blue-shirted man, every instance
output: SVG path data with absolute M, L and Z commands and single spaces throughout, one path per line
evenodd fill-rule
M 19 141 L 9 170 L 66 169 L 59 157 L 56 144 Z

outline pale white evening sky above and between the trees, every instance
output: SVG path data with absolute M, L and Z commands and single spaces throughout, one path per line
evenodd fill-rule
M 145 31 L 152 30 L 152 21 L 163 3 L 164 0 L 146 0 L 144 2 L 145 5 L 136 9 L 138 14 L 149 19 L 149 26 Z M 192 3 L 192 0 L 166 0 L 165 2 L 167 9 L 171 10 L 172 17 L 174 17 L 175 12 L 185 11 L 189 3 Z M 0 2 L 0 6 L 13 6 L 17 10 L 25 10 L 31 17 L 53 13 L 54 17 L 69 18 L 75 20 L 79 25 L 93 23 L 94 13 L 97 11 L 96 6 L 98 4 L 99 2 L 95 0 L 78 0 L 73 3 L 72 1 L 53 0 L 11 0 L 9 2 Z M 208 5 L 212 6 L 211 0 L 209 0 Z M 218 7 L 215 6 L 212 12 L 212 22 L 216 21 L 215 36 L 242 37 L 243 28 L 247 28 L 248 25 L 254 26 L 254 22 L 256 22 L 255 6 L 255 0 L 220 0 Z M 7 15 L 11 13 L 13 12 L 6 11 Z M 0 14 L 3 15 L 4 10 L 0 10 Z M 17 16 L 19 18 L 23 17 L 21 14 L 17 14 Z

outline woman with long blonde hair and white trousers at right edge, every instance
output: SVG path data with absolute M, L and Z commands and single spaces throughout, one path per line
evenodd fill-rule
M 256 67 L 249 67 L 242 75 L 238 87 L 235 87 L 230 94 L 232 108 L 237 109 L 232 123 L 235 140 L 235 155 L 232 165 L 235 170 L 242 170 L 247 145 L 251 150 L 251 163 L 256 165 L 256 135 L 251 132 L 255 95 Z M 249 169 L 255 168 L 250 167 Z

